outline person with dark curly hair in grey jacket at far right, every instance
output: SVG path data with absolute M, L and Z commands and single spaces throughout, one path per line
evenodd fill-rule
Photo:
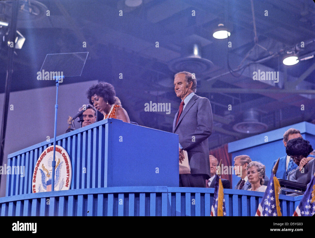
M 299 166 L 289 172 L 288 180 L 307 185 L 315 172 L 315 156 L 310 154 L 313 151 L 310 142 L 301 137 L 289 140 L 285 151 Z

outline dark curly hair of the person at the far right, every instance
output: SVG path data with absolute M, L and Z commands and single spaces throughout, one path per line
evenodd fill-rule
M 309 141 L 304 140 L 302 137 L 294 138 L 288 141 L 285 152 L 289 156 L 303 155 L 308 156 L 313 151 Z

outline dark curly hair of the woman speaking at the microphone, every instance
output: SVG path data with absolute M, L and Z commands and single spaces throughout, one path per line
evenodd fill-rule
M 93 105 L 91 97 L 95 94 L 99 97 L 103 97 L 105 102 L 108 102 L 109 104 L 115 103 L 115 96 L 116 92 L 114 89 L 114 86 L 112 86 L 110 83 L 105 82 L 99 82 L 97 84 L 92 85 L 88 91 L 86 92 L 90 104 Z

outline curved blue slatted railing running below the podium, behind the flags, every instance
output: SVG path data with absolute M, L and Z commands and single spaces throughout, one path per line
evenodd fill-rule
M 213 188 L 108 187 L 0 198 L 1 216 L 210 216 Z M 224 189 L 227 216 L 254 216 L 262 192 Z M 279 195 L 283 216 L 302 196 Z

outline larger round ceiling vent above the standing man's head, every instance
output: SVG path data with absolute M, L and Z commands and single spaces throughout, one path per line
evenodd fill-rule
M 194 43 L 188 55 L 170 62 L 169 69 L 173 72 L 188 71 L 200 75 L 213 66 L 209 59 L 201 57 L 201 47 Z

